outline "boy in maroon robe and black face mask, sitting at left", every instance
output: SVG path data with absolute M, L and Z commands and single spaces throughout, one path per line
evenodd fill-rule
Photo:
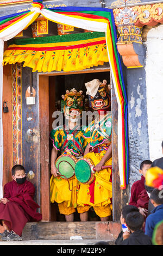
M 4 185 L 4 197 L 0 203 L 0 224 L 4 227 L 1 234 L 3 241 L 22 240 L 22 230 L 27 222 L 41 221 L 42 215 L 33 198 L 34 185 L 26 180 L 23 166 L 12 167 L 12 181 Z

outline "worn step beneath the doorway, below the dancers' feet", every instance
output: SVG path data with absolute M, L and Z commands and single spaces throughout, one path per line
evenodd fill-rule
M 23 240 L 115 240 L 121 231 L 117 222 L 32 222 L 23 229 Z M 82 240 L 81 240 L 82 242 Z

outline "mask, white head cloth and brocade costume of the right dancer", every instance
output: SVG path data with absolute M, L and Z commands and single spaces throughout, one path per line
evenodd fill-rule
M 97 111 L 101 109 L 106 111 L 103 118 L 100 118 L 100 121 L 99 119 L 93 120 L 84 133 L 91 150 L 84 157 L 91 159 L 96 166 L 101 162 L 111 144 L 111 112 L 108 111 L 110 97 L 108 89 L 99 80 L 93 80 L 87 84 L 89 85 L 87 94 L 91 96 L 92 108 Z M 112 157 L 105 162 L 105 166 L 111 166 L 111 163 Z M 99 217 L 108 217 L 112 214 L 111 173 L 111 168 L 100 170 L 95 173 L 95 179 L 91 184 L 80 184 L 77 203 L 81 206 L 93 206 Z

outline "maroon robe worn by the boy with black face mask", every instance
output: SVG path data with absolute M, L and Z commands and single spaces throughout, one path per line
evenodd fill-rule
M 17 235 L 22 235 L 27 222 L 38 222 L 42 219 L 42 215 L 36 212 L 40 206 L 34 202 L 34 194 L 34 185 L 27 180 L 23 184 L 17 184 L 13 180 L 4 185 L 3 197 L 10 202 L 0 203 L 0 220 L 5 220 L 5 224 Z

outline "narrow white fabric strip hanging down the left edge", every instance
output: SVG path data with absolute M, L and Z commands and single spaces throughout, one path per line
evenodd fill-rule
M 0 199 L 3 197 L 3 123 L 2 123 L 2 95 L 3 95 L 3 47 L 4 41 L 0 39 Z

